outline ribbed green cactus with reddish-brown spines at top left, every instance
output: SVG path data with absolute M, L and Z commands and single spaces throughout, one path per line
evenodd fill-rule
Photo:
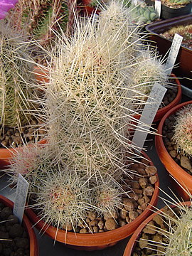
M 48 43 L 53 38 L 53 28 L 66 31 L 68 5 L 65 0 L 18 0 L 14 16 L 17 29 L 24 28 L 36 40 Z

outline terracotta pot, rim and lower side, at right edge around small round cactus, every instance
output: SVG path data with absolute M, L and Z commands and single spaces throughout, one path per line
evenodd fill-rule
M 169 110 L 169 112 L 167 112 L 161 119 L 157 132 L 160 135 L 162 135 L 165 119 L 171 116 L 171 114 L 174 114 L 174 112 L 176 112 L 177 110 L 181 109 L 181 107 L 188 104 L 192 104 L 192 100 L 188 102 L 183 102 L 180 105 L 173 107 L 171 110 Z M 180 166 L 178 166 L 174 159 L 172 159 L 169 152 L 166 150 L 162 136 L 156 135 L 155 145 L 157 154 L 159 155 L 159 159 L 164 164 L 166 171 L 168 171 L 169 174 L 171 174 L 171 176 L 173 176 L 176 179 L 176 181 L 178 181 L 178 183 L 181 184 L 181 186 L 183 186 L 184 188 L 186 186 L 186 188 L 188 188 L 188 191 L 192 193 L 192 176 L 188 174 L 186 171 L 184 171 Z M 174 181 L 173 178 L 170 177 L 170 181 L 174 186 L 175 190 L 177 191 L 177 193 L 179 193 L 179 195 L 183 198 L 184 201 L 187 201 L 189 199 L 187 193 L 183 191 L 181 186 L 179 186 L 178 183 L 176 183 L 176 181 Z

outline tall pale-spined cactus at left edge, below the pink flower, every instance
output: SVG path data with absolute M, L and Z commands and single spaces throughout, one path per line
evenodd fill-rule
M 30 41 L 14 30 L 11 21 L 4 20 L 0 23 L 0 37 L 0 124 L 2 129 L 21 128 L 30 122 L 30 100 L 36 97 Z

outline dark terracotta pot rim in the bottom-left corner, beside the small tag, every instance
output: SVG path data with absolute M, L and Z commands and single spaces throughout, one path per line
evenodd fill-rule
M 1 203 L 4 203 L 4 205 L 8 206 L 9 208 L 14 208 L 14 203 L 10 201 L 8 198 L 5 198 L 4 196 L 0 195 L 0 201 Z M 26 214 L 23 215 L 23 228 L 25 228 L 26 232 L 28 233 L 28 239 L 30 242 L 30 256 L 38 256 L 38 241 L 36 238 L 36 233 L 33 230 L 33 227 L 28 220 Z

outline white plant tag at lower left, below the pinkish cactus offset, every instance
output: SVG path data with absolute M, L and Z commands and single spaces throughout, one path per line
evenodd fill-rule
M 28 194 L 28 182 L 21 174 L 18 174 L 18 182 L 16 187 L 16 198 L 14 203 L 14 215 L 22 223 L 23 213 L 26 206 L 26 197 Z

